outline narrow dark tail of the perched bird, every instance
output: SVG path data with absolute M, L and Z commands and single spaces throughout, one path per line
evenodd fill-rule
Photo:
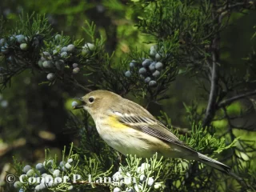
M 203 154 L 200 154 L 200 153 L 198 153 L 198 158 L 199 158 L 198 159 L 199 162 L 202 162 L 202 163 L 204 163 L 208 166 L 212 166 L 215 169 L 220 170 L 220 171 L 222 171 L 226 174 L 230 173 L 231 168 L 229 166 L 224 165 L 221 162 L 218 162 L 218 161 L 216 161 L 212 158 L 208 158 L 206 155 L 203 155 Z

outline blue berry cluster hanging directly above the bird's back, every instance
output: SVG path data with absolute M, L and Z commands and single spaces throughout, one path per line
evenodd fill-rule
M 142 58 L 142 63 L 130 62 L 130 70 L 127 70 L 125 75 L 130 78 L 132 74 L 138 71 L 144 82 L 150 87 L 157 86 L 157 79 L 161 76 L 161 71 L 164 65 L 161 62 L 161 55 L 158 54 L 156 46 L 150 47 L 150 58 Z

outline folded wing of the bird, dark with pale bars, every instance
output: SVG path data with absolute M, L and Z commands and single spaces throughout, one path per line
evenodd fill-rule
M 136 114 L 121 114 L 115 112 L 118 116 L 118 121 L 122 122 L 126 126 L 130 126 L 136 130 L 140 130 L 143 133 L 150 134 L 156 138 L 160 138 L 162 141 L 171 142 L 178 146 L 183 146 L 188 150 L 193 150 L 189 146 L 186 146 L 182 141 L 180 141 L 173 133 L 170 132 L 157 119 L 146 116 L 138 116 Z M 194 150 L 193 150 L 194 151 Z

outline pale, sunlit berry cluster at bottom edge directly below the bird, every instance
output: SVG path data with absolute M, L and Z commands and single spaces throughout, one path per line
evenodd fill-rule
M 114 179 L 114 192 L 137 192 L 142 191 L 143 183 L 146 182 L 146 185 L 152 187 L 154 185 L 154 189 L 159 189 L 161 184 L 155 183 L 154 178 L 147 177 L 145 170 L 150 170 L 150 164 L 142 163 L 141 166 L 138 166 L 138 169 L 135 173 L 135 178 L 132 178 L 130 173 L 124 173 L 121 167 L 119 167 L 118 172 L 113 175 Z M 138 178 L 138 179 L 136 179 Z M 160 185 L 160 186 L 159 186 Z

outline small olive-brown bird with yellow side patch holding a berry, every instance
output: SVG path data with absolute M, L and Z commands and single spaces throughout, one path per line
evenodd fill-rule
M 142 106 L 107 90 L 94 90 L 80 98 L 94 119 L 98 134 L 114 150 L 150 158 L 156 152 L 164 158 L 197 160 L 229 173 L 230 167 L 186 146 Z

